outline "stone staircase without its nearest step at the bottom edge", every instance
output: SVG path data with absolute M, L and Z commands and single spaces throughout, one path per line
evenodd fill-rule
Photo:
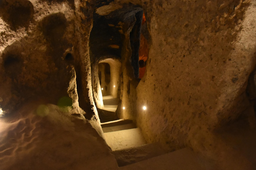
M 132 120 L 117 119 L 116 109 L 119 99 L 113 96 L 103 96 L 103 108 L 98 109 L 101 118 L 101 128 L 105 141 L 113 151 L 118 166 L 125 166 L 166 154 L 161 145 L 148 144 L 141 129 Z M 114 120 L 114 121 L 112 121 Z

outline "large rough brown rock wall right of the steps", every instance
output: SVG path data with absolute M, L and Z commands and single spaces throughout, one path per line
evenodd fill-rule
M 214 152 L 223 169 L 252 169 L 212 131 L 250 106 L 245 89 L 256 64 L 255 1 L 142 4 L 152 39 L 137 88 L 137 121 L 146 139 Z M 230 159 L 223 165 L 225 157 Z M 238 157 L 239 166 L 231 163 Z

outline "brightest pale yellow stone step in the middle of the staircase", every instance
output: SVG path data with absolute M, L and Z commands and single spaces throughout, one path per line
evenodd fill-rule
M 104 133 L 104 136 L 113 151 L 139 147 L 147 143 L 139 128 L 107 132 Z

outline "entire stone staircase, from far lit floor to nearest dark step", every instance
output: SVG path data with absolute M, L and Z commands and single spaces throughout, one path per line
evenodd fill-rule
M 105 118 L 101 120 L 101 128 L 119 169 L 210 169 L 189 148 L 169 152 L 159 143 L 147 143 L 132 120 L 117 120 L 117 99 L 106 96 L 103 103 L 102 112 L 106 115 L 99 113 L 100 118 Z

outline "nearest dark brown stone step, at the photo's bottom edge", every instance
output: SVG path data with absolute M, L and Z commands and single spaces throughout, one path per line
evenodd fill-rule
M 120 170 L 205 170 L 204 163 L 201 162 L 198 155 L 189 148 L 183 148 L 164 155 L 153 157 L 135 164 L 119 167 Z

